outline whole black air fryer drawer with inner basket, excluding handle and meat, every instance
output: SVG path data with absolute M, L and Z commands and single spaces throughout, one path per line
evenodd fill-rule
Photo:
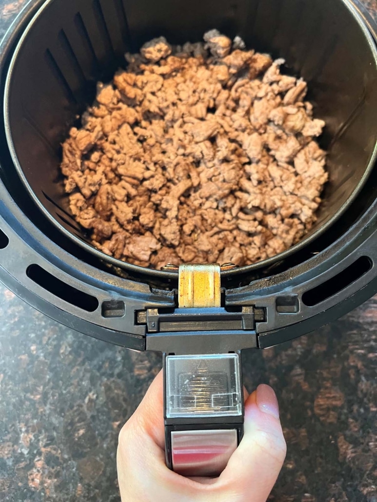
M 177 329 L 177 271 L 91 246 L 68 209 L 60 145 L 125 52 L 212 28 L 284 57 L 308 82 L 330 180 L 301 242 L 223 270 L 221 309 L 191 312 Z M 136 350 L 238 353 L 312 331 L 377 291 L 377 51 L 358 0 L 37 0 L 3 41 L 0 65 L 0 277 L 50 317 Z

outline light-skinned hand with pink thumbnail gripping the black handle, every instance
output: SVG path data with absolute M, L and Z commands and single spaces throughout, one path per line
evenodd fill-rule
M 286 456 L 275 393 L 245 391 L 244 436 L 217 478 L 183 477 L 166 467 L 162 372 L 119 435 L 122 502 L 264 502 Z

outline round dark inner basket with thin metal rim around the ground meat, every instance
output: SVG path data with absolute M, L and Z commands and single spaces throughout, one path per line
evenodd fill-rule
M 336 8 L 335 8 L 336 7 Z M 330 181 L 310 234 L 292 255 L 333 224 L 351 204 L 374 161 L 377 131 L 376 53 L 342 2 L 283 0 L 214 4 L 165 1 L 153 6 L 122 0 L 51 0 L 23 35 L 6 92 L 8 141 L 18 172 L 36 204 L 90 252 L 108 261 L 85 239 L 70 215 L 59 174 L 61 142 L 78 114 L 93 101 L 96 82 L 125 66 L 124 53 L 151 37 L 172 43 L 201 40 L 210 28 L 240 35 L 249 47 L 286 58 L 309 83 L 316 115 L 326 120 Z M 120 268 L 129 269 L 118 260 Z M 137 267 L 133 267 L 137 269 Z

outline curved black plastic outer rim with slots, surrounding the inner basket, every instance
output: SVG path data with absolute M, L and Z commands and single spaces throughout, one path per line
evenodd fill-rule
M 65 6 L 71 6 L 71 4 L 78 5 L 78 3 L 73 4 L 72 1 L 66 2 Z M 42 1 L 32 7 L 27 6 L 0 45 L 0 90 L 2 93 L 4 93 L 7 70 L 17 41 L 25 30 L 27 22 L 41 5 Z M 251 4 L 256 10 L 261 9 L 261 5 L 262 2 Z M 276 3 L 273 2 L 273 5 Z M 302 5 L 307 4 L 303 2 Z M 317 3 L 311 5 L 314 13 Z M 322 5 L 321 2 L 318 3 L 318 6 L 320 5 Z M 351 4 L 347 5 L 351 6 Z M 354 5 L 359 7 L 357 0 Z M 339 9 L 336 10 L 336 7 Z M 225 4 L 222 8 L 229 14 L 229 8 Z M 277 17 L 282 12 L 279 9 L 277 12 L 280 14 L 276 14 Z M 330 19 L 334 20 L 337 15 L 338 19 L 334 22 L 335 24 L 341 23 L 341 13 L 344 14 L 345 9 L 341 0 L 331 3 L 328 9 L 334 9 Z M 237 12 L 239 16 L 241 11 Z M 303 12 L 306 10 L 304 9 Z M 262 13 L 263 10 L 258 16 Z M 251 9 L 247 19 L 246 13 L 243 12 L 244 26 L 252 25 L 250 20 L 254 19 L 254 14 Z M 317 30 L 314 20 L 318 20 L 318 16 L 313 16 L 313 37 Z M 324 23 L 326 25 L 327 21 Z M 223 28 L 223 26 L 218 26 Z M 300 24 L 292 21 L 290 26 L 293 30 L 292 40 L 294 40 L 294 34 L 301 33 Z M 374 36 L 374 25 L 370 20 L 368 20 L 368 26 Z M 202 27 L 199 28 L 202 30 Z M 359 28 L 359 30 L 360 37 L 364 37 L 362 29 Z M 320 33 L 324 37 L 323 31 Z M 348 32 L 348 36 L 350 33 Z M 305 36 L 309 37 L 309 33 Z M 365 38 L 363 40 L 365 42 Z M 355 43 L 355 39 L 352 39 L 352 43 Z M 349 44 L 351 41 L 347 42 L 347 48 Z M 356 48 L 351 50 L 351 54 L 354 54 L 353 51 L 356 51 Z M 355 62 L 354 67 L 358 67 L 361 62 L 362 59 L 360 62 Z M 350 66 L 349 62 L 347 64 L 351 77 L 356 70 Z M 364 83 L 362 84 L 363 90 L 360 91 L 362 99 L 361 105 L 357 108 L 356 121 L 360 119 L 358 113 L 364 105 L 369 106 L 375 114 L 375 106 L 370 100 L 370 95 L 364 92 L 369 91 L 369 84 L 370 82 L 367 82 L 366 87 Z M 325 90 L 326 87 L 323 86 L 322 92 L 324 93 Z M 343 134 L 348 135 L 352 131 L 352 124 L 348 125 L 349 128 L 346 128 Z M 370 130 L 371 133 L 373 131 L 375 132 L 375 129 Z M 35 203 L 28 196 L 6 147 L 4 117 L 0 123 L 0 145 L 0 279 L 2 282 L 34 307 L 83 333 L 137 350 L 151 348 L 169 352 L 171 351 L 169 344 L 172 343 L 177 350 L 184 353 L 181 333 L 173 333 L 171 338 L 167 338 L 168 334 L 162 334 L 161 337 L 161 333 L 146 336 L 145 326 L 137 325 L 135 322 L 136 311 L 147 308 L 171 308 L 174 305 L 172 286 L 175 276 L 164 274 L 161 279 L 147 276 L 142 271 L 126 272 L 124 269 L 110 268 L 108 263 L 100 260 L 98 256 L 76 245 L 72 239 L 62 234 L 42 212 L 37 210 Z M 352 148 L 355 147 L 352 146 Z M 352 178 L 350 180 L 352 181 Z M 234 338 L 229 337 L 233 338 L 232 340 L 227 339 L 226 335 L 222 335 L 225 336 L 224 339 L 217 338 L 213 333 L 215 336 L 211 339 L 211 350 L 216 350 L 216 346 L 219 347 L 223 343 L 232 345 L 229 350 L 237 350 L 238 342 L 240 342 L 239 348 L 241 346 L 264 348 L 295 338 L 336 319 L 373 295 L 377 291 L 377 272 L 374 265 L 377 260 L 376 193 L 377 171 L 374 169 L 351 206 L 335 225 L 322 233 L 320 238 L 285 260 L 279 260 L 273 266 L 265 266 L 263 270 L 255 271 L 254 269 L 252 274 L 249 271 L 245 275 L 239 270 L 231 274 L 223 273 L 223 286 L 233 288 L 225 291 L 226 304 L 261 307 L 265 312 L 265 320 L 256 323 L 256 332 L 251 333 L 251 336 L 248 335 L 247 339 L 241 336 L 238 338 L 238 335 L 244 336 L 245 332 L 235 335 Z M 326 283 L 342 270 L 352 266 L 360 257 L 366 257 L 372 264 L 365 274 L 332 294 L 325 301 L 313 306 L 307 306 L 302 302 L 302 295 L 305 292 Z M 27 269 L 33 264 L 73 288 L 97 298 L 98 308 L 93 312 L 85 311 L 51 294 L 48 289 L 28 278 Z M 128 276 L 130 272 L 132 280 Z M 173 281 L 170 286 L 169 280 Z M 158 284 L 160 287 L 156 289 Z M 161 289 L 162 285 L 164 285 L 164 290 Z M 296 297 L 295 312 L 277 311 L 277 297 Z M 125 315 L 122 308 L 116 308 L 121 306 L 122 302 L 125 305 Z M 112 311 L 118 311 L 117 317 L 111 315 Z M 187 338 L 187 342 L 192 344 L 193 348 L 198 347 L 200 342 L 202 351 L 205 341 L 209 340 L 199 335 L 196 344 L 194 338 L 191 336 Z

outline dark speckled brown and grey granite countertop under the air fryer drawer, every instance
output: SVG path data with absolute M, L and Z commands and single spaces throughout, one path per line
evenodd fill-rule
M 26 0 L 0 0 L 0 37 Z M 372 15 L 377 2 L 365 2 Z M 0 286 L 0 500 L 120 500 L 119 430 L 161 367 L 72 331 Z M 243 355 L 278 396 L 287 459 L 269 500 L 377 502 L 377 297 L 315 333 Z

